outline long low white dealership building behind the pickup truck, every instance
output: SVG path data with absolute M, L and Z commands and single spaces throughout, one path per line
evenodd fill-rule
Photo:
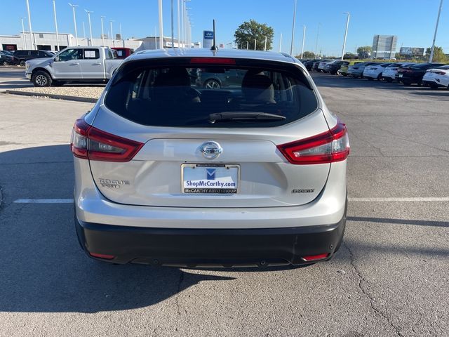
M 104 41 L 104 43 L 103 43 Z M 120 34 L 116 34 L 116 39 L 88 39 L 78 37 L 78 43 L 72 34 L 59 33 L 58 40 L 55 33 L 49 32 L 20 32 L 18 35 L 0 35 L 0 46 L 3 51 L 16 51 L 21 49 L 39 49 L 43 51 L 58 51 L 69 46 L 109 46 L 138 48 L 142 41 L 139 39 L 121 39 Z M 35 47 L 34 47 L 35 45 Z

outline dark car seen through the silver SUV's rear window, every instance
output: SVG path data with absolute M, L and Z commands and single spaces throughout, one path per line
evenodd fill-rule
M 197 69 L 196 85 L 208 89 L 219 89 L 226 86 L 241 86 L 241 81 L 246 71 L 236 69 L 215 69 L 209 72 L 207 69 Z

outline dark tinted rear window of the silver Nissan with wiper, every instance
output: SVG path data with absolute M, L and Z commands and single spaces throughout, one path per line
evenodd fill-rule
M 294 65 L 161 63 L 123 65 L 107 91 L 109 110 L 148 126 L 247 128 L 288 124 L 318 107 Z

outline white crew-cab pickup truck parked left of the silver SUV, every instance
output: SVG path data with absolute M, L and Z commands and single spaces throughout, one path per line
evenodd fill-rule
M 107 82 L 123 60 L 114 60 L 108 47 L 67 47 L 53 58 L 25 62 L 25 76 L 34 86 L 58 86 L 67 82 Z

